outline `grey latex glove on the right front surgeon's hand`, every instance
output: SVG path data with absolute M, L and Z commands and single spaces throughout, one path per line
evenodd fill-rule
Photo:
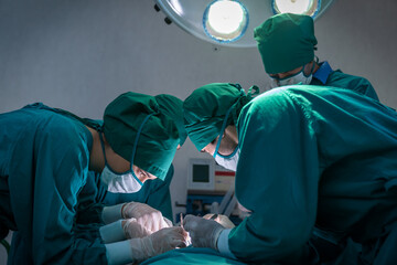
M 217 250 L 217 239 L 224 226 L 214 220 L 206 220 L 193 215 L 183 219 L 183 229 L 189 232 L 195 247 L 210 247 Z

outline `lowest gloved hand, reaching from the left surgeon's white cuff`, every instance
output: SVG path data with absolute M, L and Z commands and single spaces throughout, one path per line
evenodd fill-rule
M 132 239 L 130 240 L 132 258 L 140 263 L 176 247 L 185 247 L 186 235 L 182 227 L 175 226 L 160 230 L 143 239 Z

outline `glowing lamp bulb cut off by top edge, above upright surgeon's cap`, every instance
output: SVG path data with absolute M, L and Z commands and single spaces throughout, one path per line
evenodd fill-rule
M 314 18 L 321 8 L 320 0 L 273 0 L 273 13 L 307 14 Z

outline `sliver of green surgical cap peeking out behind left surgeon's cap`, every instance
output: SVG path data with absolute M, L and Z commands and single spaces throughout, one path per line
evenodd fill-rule
M 159 104 L 160 110 L 168 115 L 175 123 L 179 132 L 180 145 L 182 146 L 187 137 L 183 121 L 183 102 L 178 97 L 167 94 L 157 95 L 155 100 Z

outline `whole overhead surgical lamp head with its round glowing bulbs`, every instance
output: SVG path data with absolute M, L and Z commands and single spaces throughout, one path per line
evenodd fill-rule
M 277 13 L 303 13 L 318 19 L 333 0 L 154 0 L 186 32 L 225 46 L 256 46 L 254 29 Z

